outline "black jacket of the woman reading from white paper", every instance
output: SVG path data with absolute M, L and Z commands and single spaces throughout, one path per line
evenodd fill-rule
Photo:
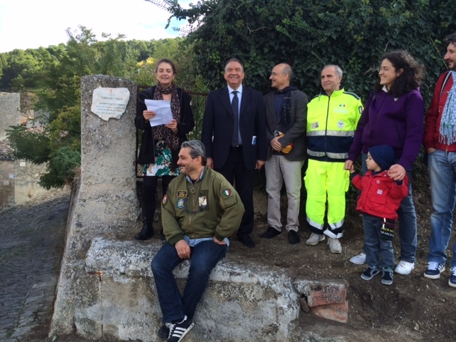
M 155 162 L 155 142 L 152 136 L 152 128 L 149 121 L 145 120 L 142 112 L 147 110 L 145 100 L 152 100 L 155 92 L 155 86 L 147 88 L 138 95 L 136 110 L 135 126 L 142 133 L 140 153 L 138 155 L 138 164 L 152 164 Z M 180 98 L 180 122 L 177 123 L 177 135 L 179 135 L 179 144 L 187 140 L 187 133 L 195 127 L 190 101 L 192 97 L 180 88 L 177 88 L 177 95 Z M 174 155 L 173 155 L 174 157 Z M 173 160 L 177 162 L 177 160 Z

